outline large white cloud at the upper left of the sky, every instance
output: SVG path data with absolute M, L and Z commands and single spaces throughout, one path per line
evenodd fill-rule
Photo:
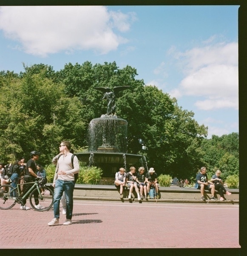
M 116 50 L 128 41 L 117 31 L 128 31 L 134 20 L 134 13 L 108 12 L 105 6 L 0 7 L 4 35 L 19 41 L 26 53 L 43 57 L 77 49 Z

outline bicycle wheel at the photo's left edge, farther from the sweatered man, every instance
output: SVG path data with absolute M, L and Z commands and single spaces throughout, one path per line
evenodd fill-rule
M 16 199 L 13 196 L 10 196 L 10 193 L 13 193 L 15 190 L 16 195 L 17 189 L 14 189 L 10 185 L 0 186 L 0 209 L 6 210 L 12 208 L 16 204 Z

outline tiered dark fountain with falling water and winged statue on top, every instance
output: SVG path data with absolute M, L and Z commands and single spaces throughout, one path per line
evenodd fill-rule
M 113 92 L 109 88 L 95 88 L 105 91 L 102 99 L 108 100 L 107 113 L 92 119 L 88 126 L 88 152 L 75 153 L 78 159 L 88 166 L 100 167 L 103 177 L 114 177 L 120 167 L 125 168 L 127 172 L 130 166 L 142 165 L 148 168 L 145 157 L 127 153 L 128 122 L 115 115 L 115 96 L 120 90 L 128 87 L 114 87 Z

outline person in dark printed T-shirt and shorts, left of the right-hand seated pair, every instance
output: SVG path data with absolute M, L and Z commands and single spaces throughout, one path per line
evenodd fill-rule
M 206 174 L 206 167 L 202 167 L 199 171 L 199 173 L 196 175 L 196 184 L 195 184 L 196 189 L 200 189 L 202 198 L 201 200 L 205 200 L 204 198 L 204 190 L 210 190 L 211 189 L 211 195 L 212 197 L 210 200 L 217 200 L 214 197 L 214 192 L 215 192 L 215 187 L 214 184 L 208 180 L 207 174 Z

